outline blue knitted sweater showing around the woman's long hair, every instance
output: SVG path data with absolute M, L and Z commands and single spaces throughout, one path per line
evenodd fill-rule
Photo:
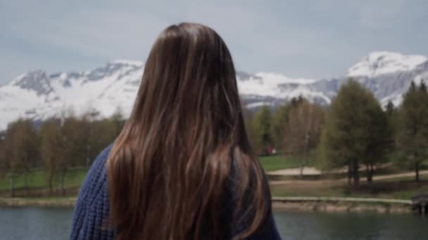
M 108 227 L 110 204 L 108 201 L 107 171 L 105 168 L 110 151 L 111 145 L 96 157 L 80 189 L 70 236 L 72 240 L 114 239 L 114 230 Z M 270 196 L 265 197 L 266 201 L 270 201 Z M 222 224 L 225 225 L 225 233 L 229 235 L 229 238 L 232 238 L 232 236 L 236 236 L 248 227 L 249 219 L 246 219 L 245 215 L 241 215 L 240 223 L 234 226 L 231 225 L 230 213 L 234 211 L 237 204 L 232 185 L 227 187 L 227 194 L 222 201 L 222 207 L 219 209 L 222 212 Z M 269 218 L 265 226 L 249 239 L 280 239 L 275 222 L 272 220 L 272 215 Z

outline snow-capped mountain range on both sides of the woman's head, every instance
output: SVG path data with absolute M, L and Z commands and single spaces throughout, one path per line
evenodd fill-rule
M 118 108 L 130 114 L 141 82 L 144 62 L 115 60 L 86 72 L 49 74 L 42 70 L 17 76 L 0 86 L 0 131 L 20 117 L 44 120 L 72 111 L 80 115 L 98 112 L 111 116 Z M 422 55 L 374 52 L 334 79 L 294 79 L 283 74 L 237 72 L 244 105 L 275 107 L 302 96 L 328 105 L 346 79 L 358 79 L 382 105 L 399 105 L 410 81 L 428 79 L 428 59 Z

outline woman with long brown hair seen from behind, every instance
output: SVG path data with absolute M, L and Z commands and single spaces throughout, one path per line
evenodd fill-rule
M 70 239 L 279 239 L 213 29 L 158 36 L 130 119 L 80 189 Z

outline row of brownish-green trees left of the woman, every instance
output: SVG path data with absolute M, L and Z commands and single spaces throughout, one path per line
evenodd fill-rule
M 41 168 L 49 191 L 53 191 L 53 179 L 59 178 L 61 194 L 64 195 L 68 170 L 73 167 L 89 168 L 125 123 L 120 112 L 102 120 L 95 120 L 93 113 L 81 118 L 69 115 L 48 119 L 41 126 L 27 119 L 18 119 L 8 125 L 0 138 L 0 178 L 8 178 L 11 196 L 15 196 L 15 179 L 18 176 L 23 176 L 28 194 L 28 175 Z

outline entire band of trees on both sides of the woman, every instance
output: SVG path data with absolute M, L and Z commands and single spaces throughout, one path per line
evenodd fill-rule
M 268 106 L 257 112 L 244 109 L 244 121 L 258 154 L 275 147 L 284 156 L 296 156 L 301 173 L 309 162 L 325 172 L 346 169 L 353 185 L 359 184 L 362 171 L 372 182 L 376 167 L 389 162 L 413 168 L 419 181 L 428 157 L 428 93 L 423 81 L 410 85 L 399 107 L 391 102 L 382 107 L 371 91 L 350 79 L 327 107 L 294 98 L 275 110 Z M 53 179 L 59 178 L 65 194 L 68 170 L 89 168 L 123 124 L 120 110 L 101 120 L 93 113 L 80 118 L 63 114 L 39 126 L 19 119 L 0 135 L 0 178 L 8 178 L 14 196 L 18 176 L 23 176 L 28 192 L 27 176 L 43 169 L 46 187 L 52 192 Z

